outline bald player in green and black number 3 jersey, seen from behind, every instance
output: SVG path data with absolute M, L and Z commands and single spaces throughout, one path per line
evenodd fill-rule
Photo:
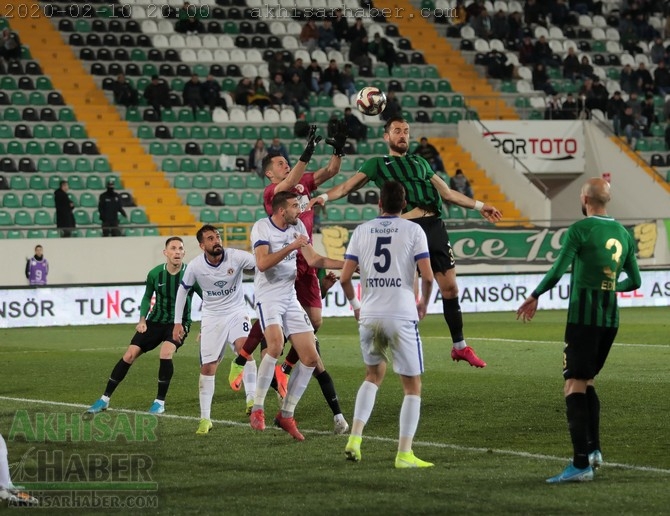
M 641 284 L 635 241 L 607 215 L 609 183 L 589 179 L 580 199 L 587 218 L 570 226 L 558 259 L 517 311 L 517 318 L 530 321 L 538 298 L 572 265 L 563 378 L 574 456 L 563 472 L 547 479 L 549 483 L 593 480 L 593 470 L 602 463 L 600 401 L 593 379 L 605 365 L 619 328 L 616 293 L 635 290 Z M 624 280 L 619 280 L 621 271 L 627 275 Z

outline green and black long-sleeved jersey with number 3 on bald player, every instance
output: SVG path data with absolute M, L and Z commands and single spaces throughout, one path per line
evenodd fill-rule
M 568 323 L 618 327 L 616 293 L 635 290 L 641 283 L 631 234 L 611 217 L 591 216 L 574 223 L 556 263 L 533 295 L 554 287 L 571 264 Z M 618 281 L 621 271 L 628 277 Z

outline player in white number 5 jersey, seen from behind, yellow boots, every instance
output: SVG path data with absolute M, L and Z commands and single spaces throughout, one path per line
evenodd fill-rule
M 351 436 L 344 449 L 347 459 L 361 460 L 363 428 L 375 405 L 386 374 L 387 352 L 400 376 L 405 397 L 400 408 L 400 439 L 396 468 L 425 468 L 412 452 L 421 411 L 423 351 L 418 323 L 426 315 L 433 288 L 428 240 L 417 224 L 400 217 L 406 206 L 405 189 L 389 181 L 381 189 L 382 215 L 356 228 L 344 255 L 340 283 L 359 321 L 365 381 L 358 389 Z M 360 268 L 361 301 L 351 277 Z M 414 294 L 414 272 L 421 274 L 421 298 Z

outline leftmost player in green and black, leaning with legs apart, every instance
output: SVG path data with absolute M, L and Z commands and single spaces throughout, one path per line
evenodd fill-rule
M 149 408 L 151 414 L 162 414 L 165 412 L 165 396 L 170 387 L 170 380 L 174 372 L 172 357 L 184 343 L 191 327 L 191 299 L 193 291 L 201 295 L 200 287 L 194 286 L 187 298 L 183 314 L 184 334 L 181 340 L 172 338 L 174 326 L 174 306 L 177 298 L 177 290 L 181 283 L 186 265 L 184 264 L 184 242 L 179 237 L 170 237 L 165 242 L 163 254 L 166 263 L 157 265 L 149 271 L 146 281 L 146 289 L 140 306 L 140 322 L 130 345 L 109 376 L 104 394 L 87 410 L 95 414 L 109 407 L 109 399 L 126 377 L 128 369 L 142 353 L 157 348 L 160 349 L 160 365 L 158 367 L 158 393 L 156 399 Z M 151 307 L 151 298 L 156 294 L 156 302 Z M 151 308 L 151 311 L 149 309 Z

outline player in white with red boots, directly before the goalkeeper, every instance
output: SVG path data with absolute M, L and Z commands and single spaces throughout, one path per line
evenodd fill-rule
M 267 353 L 258 367 L 256 398 L 249 421 L 252 428 L 265 429 L 265 396 L 286 335 L 298 352 L 300 363 L 293 369 L 275 424 L 302 441 L 304 437 L 296 427 L 293 413 L 307 388 L 319 355 L 314 329 L 295 291 L 296 257 L 300 249 L 310 267 L 323 269 L 341 269 L 343 262 L 316 253 L 298 215 L 298 194 L 278 192 L 272 200 L 272 215 L 256 222 L 251 230 L 251 245 L 256 257 L 256 313 L 261 321 Z

